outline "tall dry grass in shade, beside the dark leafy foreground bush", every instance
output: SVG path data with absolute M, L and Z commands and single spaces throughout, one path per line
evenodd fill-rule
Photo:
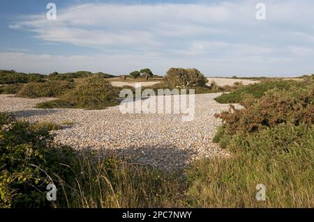
M 73 184 L 62 180 L 65 207 L 179 207 L 184 181 L 154 168 L 82 152 Z M 67 166 L 70 167 L 70 166 Z M 70 189 L 67 189 L 69 188 Z

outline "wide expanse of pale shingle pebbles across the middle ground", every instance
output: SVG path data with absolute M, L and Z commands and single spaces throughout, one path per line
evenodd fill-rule
M 195 118 L 183 122 L 184 114 L 123 114 L 119 106 L 104 110 L 35 109 L 38 102 L 52 100 L 22 99 L 0 95 L 0 111 L 13 112 L 31 122 L 75 122 L 57 132 L 55 140 L 74 148 L 94 148 L 130 157 L 140 164 L 163 170 L 184 168 L 202 157 L 227 157 L 212 143 L 221 121 L 215 113 L 228 109 L 214 100 L 220 93 L 195 95 Z M 151 97 L 149 100 L 156 100 Z

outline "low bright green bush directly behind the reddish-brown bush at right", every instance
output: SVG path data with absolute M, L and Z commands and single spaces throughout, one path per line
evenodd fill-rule
M 244 95 L 252 95 L 255 98 L 262 97 L 267 90 L 277 88 L 279 90 L 288 90 L 291 86 L 299 86 L 301 83 L 297 81 L 263 81 L 261 83 L 239 87 L 232 93 L 225 93 L 216 97 L 216 101 L 220 103 L 239 103 L 243 100 Z M 227 89 L 227 88 L 226 88 Z

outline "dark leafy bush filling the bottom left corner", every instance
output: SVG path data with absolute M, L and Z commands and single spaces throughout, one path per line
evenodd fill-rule
M 75 152 L 54 145 L 45 127 L 6 113 L 0 113 L 0 127 L 0 207 L 51 207 L 46 186 L 58 184 L 58 177 L 70 181 L 72 171 L 62 164 L 73 163 Z

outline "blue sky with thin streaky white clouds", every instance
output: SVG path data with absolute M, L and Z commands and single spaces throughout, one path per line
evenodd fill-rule
M 47 19 L 47 3 L 57 19 Z M 257 3 L 266 19 L 256 19 Z M 1 0 L 0 69 L 197 68 L 207 77 L 314 73 L 313 0 Z

